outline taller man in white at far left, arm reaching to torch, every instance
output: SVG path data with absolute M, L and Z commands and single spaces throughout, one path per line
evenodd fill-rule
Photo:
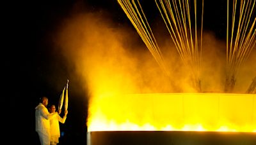
M 58 112 L 49 113 L 47 109 L 48 99 L 47 97 L 42 97 L 38 106 L 35 107 L 35 119 L 36 119 L 36 132 L 39 135 L 41 145 L 49 145 L 51 142 L 51 133 L 50 133 L 50 120 Z

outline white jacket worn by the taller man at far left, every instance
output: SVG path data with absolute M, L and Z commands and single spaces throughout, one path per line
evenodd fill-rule
M 49 113 L 47 108 L 42 103 L 39 103 L 38 106 L 35 107 L 35 109 L 36 132 L 41 132 L 42 134 L 49 135 L 50 120 L 58 115 L 58 113 Z

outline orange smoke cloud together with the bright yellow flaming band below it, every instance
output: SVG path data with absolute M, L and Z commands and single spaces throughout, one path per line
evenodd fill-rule
M 75 15 L 56 37 L 56 48 L 61 48 L 59 52 L 74 67 L 72 76 L 84 86 L 77 89 L 86 90 L 79 96 L 89 100 L 88 131 L 256 132 L 255 95 L 193 94 L 191 69 L 182 64 L 174 45 L 163 45 L 167 78 L 145 46 L 138 45 L 133 29 L 113 26 L 106 19 L 102 13 Z M 221 92 L 226 55 L 220 50 L 225 43 L 206 32 L 204 41 L 202 88 Z M 244 93 L 255 77 L 255 58 L 254 49 L 246 66 L 241 66 L 236 93 Z

